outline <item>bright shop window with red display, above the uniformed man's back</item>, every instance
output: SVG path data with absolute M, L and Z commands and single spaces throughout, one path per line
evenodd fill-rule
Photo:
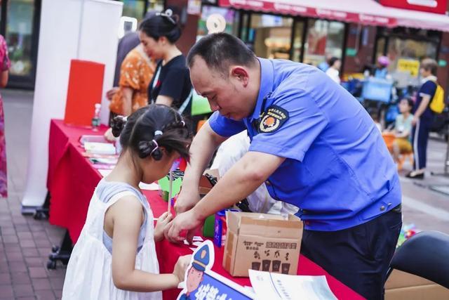
M 309 20 L 304 44 L 304 63 L 319 65 L 326 56 L 342 58 L 344 23 L 327 20 Z

